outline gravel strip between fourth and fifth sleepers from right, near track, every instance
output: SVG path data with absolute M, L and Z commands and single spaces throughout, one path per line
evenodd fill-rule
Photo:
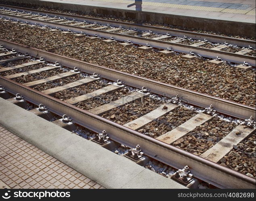
M 113 92 L 105 93 L 100 96 L 95 96 L 93 98 L 90 98 L 88 100 L 84 100 L 82 102 L 79 102 L 77 107 L 84 109 L 84 110 L 90 110 L 95 107 L 99 107 L 101 105 L 105 105 L 107 103 L 111 103 L 115 100 L 118 100 L 124 96 L 127 96 L 131 94 L 131 92 L 128 89 L 121 89 L 116 90 Z

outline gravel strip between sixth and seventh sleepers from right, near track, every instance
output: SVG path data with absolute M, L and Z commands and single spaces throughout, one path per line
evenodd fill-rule
M 67 78 L 62 78 L 62 79 L 58 79 L 58 80 L 53 80 L 51 82 L 45 82 L 43 84 L 38 84 L 34 87 L 34 89 L 36 89 L 38 91 L 43 91 L 43 90 L 54 88 L 57 86 L 62 86 L 64 84 L 69 84 L 71 82 L 75 82 L 75 81 L 81 80 L 83 78 L 85 78 L 85 77 L 82 76 L 82 74 L 76 74 L 75 76 L 70 76 Z

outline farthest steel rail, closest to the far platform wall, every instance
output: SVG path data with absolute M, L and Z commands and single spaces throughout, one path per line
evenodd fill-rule
M 170 28 L 164 28 L 164 27 L 154 27 L 149 25 L 140 25 L 136 23 L 126 23 L 126 22 L 120 22 L 120 21 L 113 21 L 113 20 L 107 20 L 107 19 L 100 19 L 100 18 L 92 18 L 92 17 L 85 17 L 85 16 L 79 16 L 79 15 L 73 15 L 73 14 L 65 14 L 65 13 L 59 13 L 59 12 L 50 12 L 50 11 L 43 11 L 43 10 L 36 10 L 36 9 L 30 9 L 30 8 L 22 8 L 17 6 L 6 6 L 3 4 L 0 4 L 1 7 L 10 8 L 10 9 L 17 9 L 20 12 L 32 12 L 33 14 L 48 14 L 51 17 L 57 16 L 60 18 L 66 17 L 69 20 L 73 20 L 75 18 L 77 21 L 84 21 L 86 20 L 88 23 L 94 23 L 97 22 L 100 25 L 111 25 L 113 27 L 119 27 L 122 26 L 125 29 L 137 29 L 138 31 L 146 31 L 149 30 L 153 31 L 154 33 L 159 33 L 165 35 L 166 33 L 170 33 L 170 35 L 177 36 L 177 37 L 183 37 L 186 35 L 189 38 L 197 39 L 197 40 L 204 40 L 208 39 L 208 41 L 214 42 L 214 43 L 224 43 L 227 42 L 232 45 L 237 45 L 240 47 L 248 47 L 249 45 L 252 47 L 256 47 L 256 41 L 246 40 L 246 39 L 237 39 L 232 37 L 225 37 L 225 36 L 219 36 L 219 35 L 211 35 L 206 33 L 197 33 L 192 31 L 183 31 L 178 29 L 170 29 Z

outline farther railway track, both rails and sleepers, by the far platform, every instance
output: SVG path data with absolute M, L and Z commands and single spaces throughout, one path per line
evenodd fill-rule
M 255 66 L 255 41 L 0 5 L 0 17 L 46 29 Z M 57 27 L 57 28 L 56 28 Z M 83 34 L 81 34 L 83 33 Z M 245 46 L 245 47 L 244 47 Z M 167 52 L 166 52 L 167 51 Z

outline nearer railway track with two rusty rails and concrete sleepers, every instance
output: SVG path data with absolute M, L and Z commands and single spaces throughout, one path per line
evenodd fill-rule
M 21 95 L 11 99 L 16 104 L 24 101 L 22 99 L 35 105 L 43 104 L 49 111 L 57 115 L 67 115 L 63 117 L 66 123 L 69 122 L 70 119 L 68 117 L 70 117 L 74 123 L 97 133 L 106 130 L 110 139 L 120 144 L 128 147 L 135 147 L 140 144 L 145 155 L 174 168 L 179 169 L 189 166 L 191 173 L 195 177 L 217 187 L 255 188 L 254 178 L 217 164 L 233 149 L 234 144 L 239 144 L 243 139 L 255 133 L 255 121 L 253 121 L 253 117 L 250 117 L 255 115 L 255 108 L 39 49 L 25 47 L 13 42 L 0 40 L 0 43 L 4 45 L 1 49 L 2 53 L 0 53 L 0 64 L 5 65 L 5 68 L 0 68 L 0 73 L 2 74 L 0 76 L 0 84 L 5 88 L 1 88 L 1 96 L 10 98 L 7 92 L 12 94 L 19 93 Z M 4 48 L 9 51 L 4 52 Z M 31 60 L 31 57 L 34 57 L 34 59 Z M 14 61 L 17 62 L 15 65 L 11 63 Z M 58 61 L 61 61 L 61 64 Z M 46 63 L 48 64 L 46 65 Z M 116 82 L 118 79 L 119 81 Z M 51 86 L 47 86 L 47 83 L 50 83 Z M 84 92 L 86 87 L 90 88 L 90 86 L 91 90 Z M 84 91 L 80 94 L 78 92 L 79 87 L 84 87 L 82 89 Z M 66 96 L 62 98 L 63 100 L 57 98 L 57 94 L 60 95 L 61 92 L 73 88 L 76 88 L 76 90 L 73 90 L 73 96 L 66 93 L 62 94 Z M 142 90 L 140 90 L 141 88 Z M 4 90 L 7 92 L 4 92 Z M 168 93 L 166 93 L 167 90 Z M 69 93 L 72 93 L 72 90 Z M 186 93 L 187 99 L 183 97 Z M 106 94 L 111 96 L 110 101 L 104 99 Z M 159 94 L 168 94 L 168 96 L 161 97 Z M 100 105 L 96 104 L 95 107 L 90 106 L 89 109 L 83 109 L 86 104 L 91 104 L 86 101 L 97 100 L 97 97 L 103 98 L 100 99 Z M 115 123 L 111 117 L 111 121 L 102 117 L 102 115 L 113 111 L 113 109 L 129 106 L 143 98 L 160 99 L 158 105 L 152 108 L 151 111 L 145 111 L 140 117 L 132 119 L 132 121 L 128 121 L 124 125 Z M 102 104 L 104 102 L 102 100 L 106 101 L 105 104 Z M 186 100 L 189 101 L 189 107 L 184 102 Z M 154 122 L 155 119 L 172 112 L 175 113 L 180 108 L 187 110 L 191 107 L 191 104 L 207 107 L 207 109 L 194 111 L 193 115 L 188 115 L 189 117 L 186 121 L 180 121 L 180 125 L 177 125 L 176 128 L 172 128 L 172 130 L 163 135 L 156 136 L 155 139 L 147 134 L 138 132 L 145 125 Z M 214 108 L 210 106 L 211 104 L 214 105 Z M 230 131 L 226 136 L 223 136 L 218 143 L 206 150 L 206 152 L 200 152 L 200 156 L 175 147 L 174 143 L 178 142 L 178 139 L 186 136 L 196 127 L 213 121 L 214 118 L 217 118 L 217 113 L 223 113 L 223 111 L 232 117 L 247 120 L 243 124 L 238 123 L 230 127 Z M 211 172 L 210 175 L 209 172 Z M 230 180 L 233 182 L 230 183 Z

